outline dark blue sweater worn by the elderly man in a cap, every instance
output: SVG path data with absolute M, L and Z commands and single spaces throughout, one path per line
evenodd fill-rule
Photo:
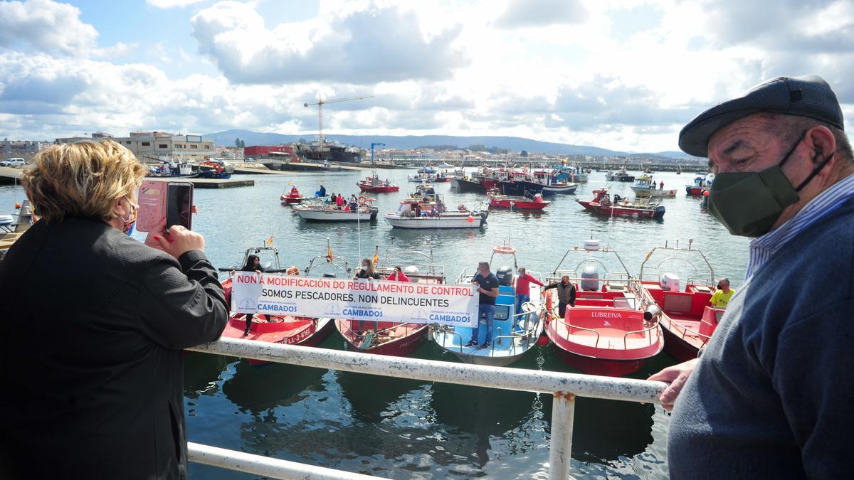
M 673 409 L 673 478 L 851 477 L 854 200 L 743 284 Z

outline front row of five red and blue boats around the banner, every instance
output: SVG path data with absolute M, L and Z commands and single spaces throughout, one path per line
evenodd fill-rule
M 377 249 L 378 251 L 378 249 Z M 632 276 L 617 252 L 588 240 L 582 247 L 566 252 L 547 275 L 522 272 L 535 278 L 524 291 L 527 300 L 518 303 L 523 290 L 518 276 L 518 251 L 511 245 L 496 245 L 489 259 L 490 271 L 499 281 L 495 299 L 491 340 L 485 319 L 478 319 L 477 342 L 471 327 L 430 324 L 429 321 L 360 321 L 347 318 L 306 318 L 288 315 L 258 315 L 247 326 L 246 315 L 232 313 L 225 337 L 258 342 L 317 346 L 337 331 L 346 348 L 369 354 L 408 356 L 424 343 L 436 342 L 447 354 L 460 361 L 478 365 L 506 366 L 520 360 L 536 348 L 552 348 L 564 363 L 594 375 L 624 376 L 637 372 L 646 360 L 662 351 L 676 360 L 695 358 L 699 348 L 713 335 L 724 311 L 710 305 L 715 292 L 714 270 L 698 249 L 689 242 L 652 249 Z M 263 257 L 259 270 L 272 274 L 350 278 L 348 262 L 327 254 L 314 257 L 301 270 L 283 269 L 278 250 L 272 246 L 253 248 L 243 255 Z M 685 260 L 697 256 L 698 261 Z M 704 266 L 692 277 L 682 279 L 672 272 L 661 272 L 668 260 L 680 257 L 692 266 Z M 395 272 L 395 266 L 404 274 Z M 220 269 L 233 271 L 240 266 Z M 421 284 L 446 284 L 442 265 L 433 259 L 432 250 L 386 252 L 375 260 L 380 278 Z M 459 272 L 455 284 L 471 284 L 472 267 Z M 389 276 L 393 277 L 389 277 Z M 226 296 L 231 296 L 231 279 L 223 281 Z M 567 293 L 569 292 L 569 293 Z M 343 311 L 343 310 L 342 310 Z M 259 318 L 261 317 L 261 318 Z M 264 318 L 266 317 L 266 318 Z M 258 363 L 258 362 L 255 362 Z

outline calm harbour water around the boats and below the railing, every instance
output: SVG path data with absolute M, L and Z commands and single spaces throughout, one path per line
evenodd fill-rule
M 379 194 L 380 215 L 396 209 L 412 171 L 380 171 L 401 184 L 401 193 Z M 637 274 L 649 249 L 665 241 L 693 238 L 718 277 L 737 287 L 744 276 L 747 241 L 731 237 L 684 195 L 692 174 L 657 173 L 665 188 L 677 188 L 675 199 L 664 200 L 662 221 L 608 220 L 583 211 L 575 199 L 589 198 L 604 186 L 605 174 L 592 173 L 575 196 L 558 196 L 543 214 L 493 212 L 482 231 L 392 230 L 384 220 L 364 223 L 361 243 L 355 224 L 309 224 L 278 196 L 293 181 L 310 194 L 326 189 L 349 196 L 365 173 L 295 173 L 256 175 L 254 188 L 196 190 L 200 214 L 197 231 L 207 239 L 215 266 L 231 266 L 243 251 L 274 237 L 283 263 L 304 268 L 314 255 L 325 255 L 326 240 L 335 255 L 357 265 L 361 256 L 385 249 L 433 248 L 449 281 L 463 266 L 488 260 L 492 247 L 506 240 L 519 249 L 520 264 L 530 271 L 551 272 L 564 252 L 594 237 L 616 249 L 629 272 Z M 612 191 L 632 196 L 629 184 L 607 183 Z M 475 194 L 458 194 L 449 184 L 436 190 L 449 205 L 473 206 Z M 20 188 L 0 187 L 0 213 L 9 213 L 22 199 Z M 576 262 L 577 263 L 577 262 Z M 574 266 L 574 265 L 573 265 Z M 674 266 L 679 272 L 682 267 Z M 343 348 L 336 333 L 323 348 Z M 418 358 L 457 361 L 432 342 Z M 647 362 L 635 378 L 675 363 L 664 354 Z M 536 348 L 515 368 L 574 372 L 550 348 Z M 295 366 L 249 366 L 245 360 L 208 354 L 186 357 L 185 408 L 190 440 L 274 456 L 312 465 L 359 471 L 383 477 L 547 477 L 551 398 L 521 392 L 478 389 L 443 383 L 378 378 Z M 579 399 L 573 434 L 573 474 L 576 477 L 664 477 L 667 471 L 666 431 L 669 417 L 652 405 Z M 190 464 L 196 478 L 251 477 L 237 472 Z

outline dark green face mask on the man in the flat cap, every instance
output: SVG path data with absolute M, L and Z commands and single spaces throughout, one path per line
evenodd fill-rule
M 780 214 L 798 202 L 798 192 L 822 171 L 834 154 L 828 155 L 797 188 L 783 173 L 782 166 L 804 139 L 806 131 L 774 167 L 762 172 L 718 173 L 709 189 L 709 213 L 742 237 L 761 237 L 771 230 Z

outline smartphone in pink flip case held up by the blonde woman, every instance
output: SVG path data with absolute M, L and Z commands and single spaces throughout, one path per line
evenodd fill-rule
M 193 184 L 143 180 L 137 198 L 138 231 L 153 231 L 163 217 L 167 220 L 167 230 L 172 225 L 192 228 Z

